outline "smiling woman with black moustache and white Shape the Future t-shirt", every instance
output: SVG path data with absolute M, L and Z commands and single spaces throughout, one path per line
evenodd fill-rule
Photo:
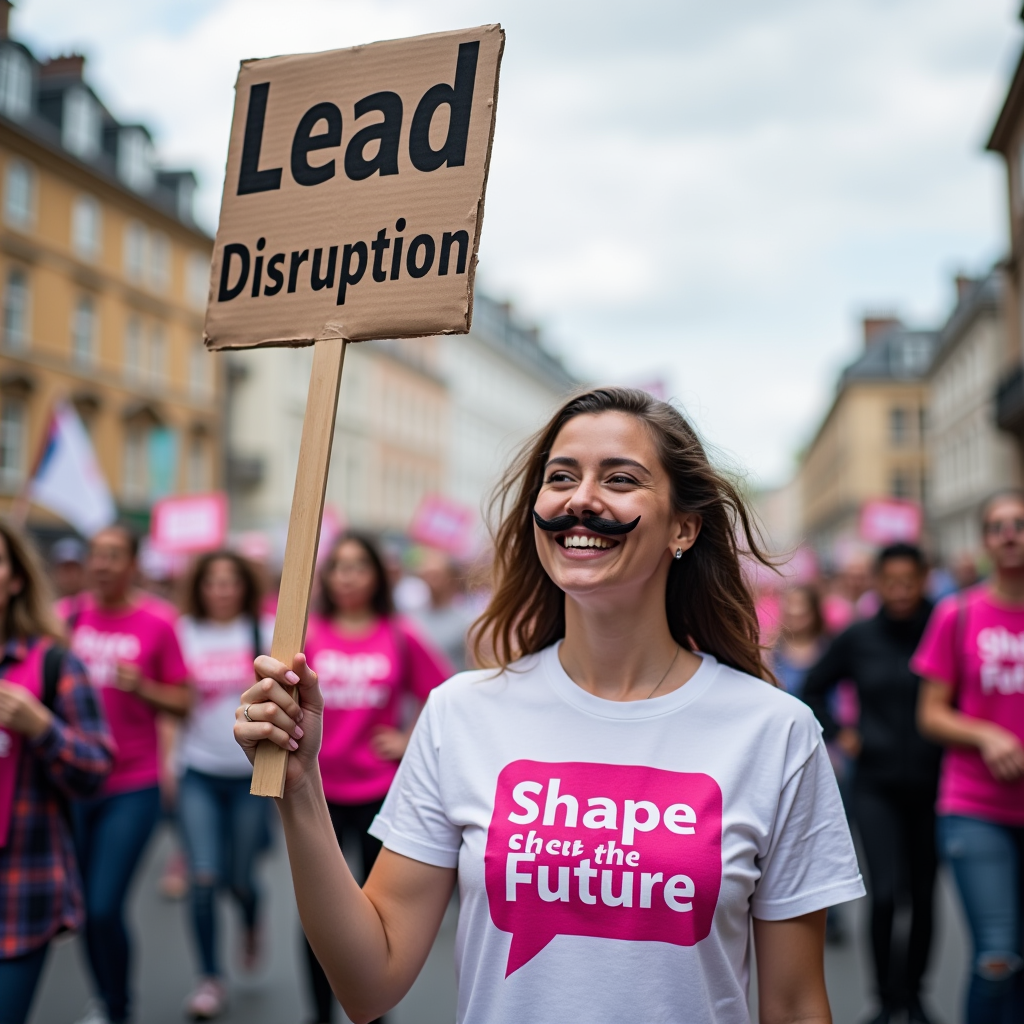
M 458 881 L 459 1021 L 750 1024 L 753 933 L 761 1024 L 827 1024 L 824 908 L 863 886 L 820 728 L 762 664 L 739 494 L 678 411 L 600 388 L 526 445 L 496 511 L 494 665 L 427 698 L 361 889 L 303 655 L 258 659 L 236 717 L 250 756 L 294 752 L 295 894 L 346 1013 L 404 995 Z

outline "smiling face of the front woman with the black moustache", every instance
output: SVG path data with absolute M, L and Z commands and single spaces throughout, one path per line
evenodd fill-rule
M 700 528 L 698 516 L 673 509 L 669 475 L 653 438 L 627 413 L 578 416 L 562 427 L 535 508 L 545 519 L 640 517 L 632 532 L 618 537 L 582 525 L 552 534 L 535 524 L 545 571 L 579 600 L 630 600 L 649 585 L 664 585 L 676 549 L 692 547 Z

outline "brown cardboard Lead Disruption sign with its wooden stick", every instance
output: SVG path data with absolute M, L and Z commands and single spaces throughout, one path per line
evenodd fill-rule
M 243 61 L 204 337 L 313 344 L 271 654 L 305 640 L 345 346 L 469 331 L 500 26 Z M 252 792 L 284 793 L 260 744 Z

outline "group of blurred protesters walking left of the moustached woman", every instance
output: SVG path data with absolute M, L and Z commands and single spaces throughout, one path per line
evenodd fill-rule
M 56 542 L 47 572 L 0 521 L 0 1024 L 28 1019 L 50 942 L 69 931 L 84 939 L 96 995 L 81 1024 L 132 1019 L 125 904 L 162 813 L 183 851 L 162 886 L 178 895 L 181 859 L 198 967 L 185 1014 L 213 1019 L 227 1005 L 219 893 L 241 916 L 243 969 L 261 964 L 256 868 L 271 804 L 250 795 L 231 728 L 253 660 L 269 650 L 273 596 L 257 566 L 223 550 L 197 559 L 172 604 L 139 586 L 138 554 L 117 524 L 87 546 Z M 394 566 L 369 537 L 340 538 L 318 572 L 306 651 L 332 699 L 325 777 L 339 844 L 353 835 L 364 871 L 379 850 L 367 829 L 418 709 L 455 671 L 441 648 L 465 664 L 452 622 L 469 615 L 449 557 L 423 561 L 408 615 L 395 612 Z M 302 943 L 326 1024 L 330 986 Z

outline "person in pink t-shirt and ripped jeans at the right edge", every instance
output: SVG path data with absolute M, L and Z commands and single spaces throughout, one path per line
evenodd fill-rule
M 982 507 L 993 577 L 935 609 L 911 668 L 921 731 L 947 748 L 939 846 L 974 940 L 967 1024 L 1024 1021 L 1024 493 Z

